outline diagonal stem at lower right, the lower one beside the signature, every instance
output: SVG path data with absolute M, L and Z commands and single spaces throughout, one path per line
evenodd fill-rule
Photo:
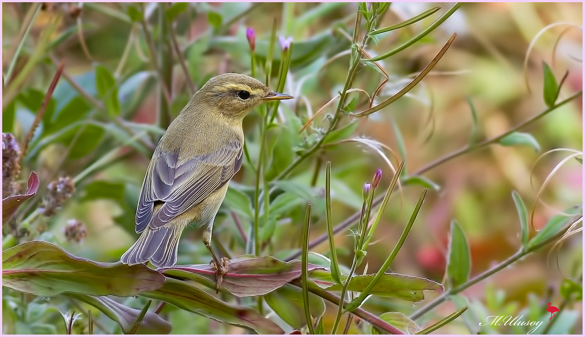
M 570 222 L 572 223 L 573 221 L 570 221 Z M 546 239 L 545 241 L 542 241 L 540 244 L 532 246 L 528 249 L 522 248 L 517 253 L 515 253 L 514 255 L 505 259 L 504 261 L 498 263 L 498 265 L 494 266 L 493 268 L 486 270 L 485 272 L 481 273 L 480 275 L 477 275 L 476 277 L 473 277 L 473 279 L 468 280 L 467 282 L 461 284 L 460 286 L 457 286 L 453 289 L 449 289 L 448 291 L 443 292 L 441 294 L 441 296 L 435 298 L 434 300 L 432 300 L 431 302 L 426 304 L 424 307 L 415 311 L 414 314 L 412 314 L 410 316 L 410 319 L 414 320 L 414 319 L 421 317 L 422 315 L 426 314 L 426 312 L 429 312 L 432 308 L 435 308 L 437 305 L 439 305 L 439 304 L 443 303 L 445 300 L 447 300 L 447 298 L 450 295 L 455 295 L 455 294 L 460 293 L 461 291 L 469 288 L 470 286 L 473 286 L 473 284 L 476 284 L 477 282 L 480 282 L 484 279 L 487 279 L 487 277 L 494 275 L 495 273 L 497 273 L 500 270 L 504 269 L 505 267 L 511 265 L 512 263 L 516 262 L 517 260 L 523 258 L 524 256 L 528 255 L 529 253 L 535 252 L 538 249 L 542 248 L 543 246 L 548 245 L 550 242 L 553 242 L 556 239 L 562 237 L 563 234 L 565 234 L 565 232 L 569 229 L 569 227 L 570 227 L 570 225 L 566 225 L 558 233 L 556 233 L 552 237 Z

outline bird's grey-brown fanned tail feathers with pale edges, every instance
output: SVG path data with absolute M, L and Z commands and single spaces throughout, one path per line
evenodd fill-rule
M 136 265 L 150 260 L 157 268 L 173 266 L 177 262 L 178 243 L 183 228 L 175 225 L 153 230 L 147 226 L 120 260 L 126 265 Z

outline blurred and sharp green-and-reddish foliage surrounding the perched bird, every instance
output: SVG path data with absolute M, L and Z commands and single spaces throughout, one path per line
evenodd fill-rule
M 525 333 L 481 323 L 548 321 L 548 301 L 560 313 L 536 333 L 579 333 L 581 193 L 553 175 L 581 169 L 580 65 L 528 47 L 566 33 L 522 36 L 541 22 L 506 39 L 471 33 L 498 6 L 3 4 L 2 332 Z M 538 96 L 518 89 L 514 60 L 533 47 Z M 215 220 L 230 258 L 216 292 L 214 268 L 193 264 L 209 260 L 197 229 L 177 266 L 118 261 L 154 146 L 220 72 L 295 99 L 245 120 L 243 168 Z M 551 148 L 572 154 L 525 168 Z M 523 259 L 552 242 L 569 272 L 519 272 L 546 269 Z M 515 288 L 496 289 L 501 277 Z M 462 294 L 486 279 L 485 297 Z M 524 283 L 555 290 L 513 297 Z

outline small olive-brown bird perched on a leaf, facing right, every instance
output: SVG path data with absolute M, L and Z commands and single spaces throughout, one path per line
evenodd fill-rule
M 246 75 L 209 79 L 154 150 L 136 209 L 136 232 L 142 235 L 121 261 L 173 266 L 181 232 L 194 222 L 204 227 L 203 242 L 213 258 L 219 290 L 228 260 L 220 262 L 212 251 L 211 232 L 229 180 L 242 167 L 242 120 L 260 103 L 291 98 Z

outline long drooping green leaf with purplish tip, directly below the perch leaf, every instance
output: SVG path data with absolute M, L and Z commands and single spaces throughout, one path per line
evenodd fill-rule
M 231 263 L 230 263 L 231 267 Z M 215 283 L 215 271 L 214 283 Z M 222 287 L 225 285 L 223 279 Z M 215 287 L 215 286 L 214 286 Z M 231 325 L 256 331 L 265 335 L 280 335 L 284 331 L 264 318 L 256 310 L 225 303 L 197 287 L 174 279 L 167 279 L 159 289 L 146 291 L 142 296 L 165 301 L 183 310 L 194 312 Z

